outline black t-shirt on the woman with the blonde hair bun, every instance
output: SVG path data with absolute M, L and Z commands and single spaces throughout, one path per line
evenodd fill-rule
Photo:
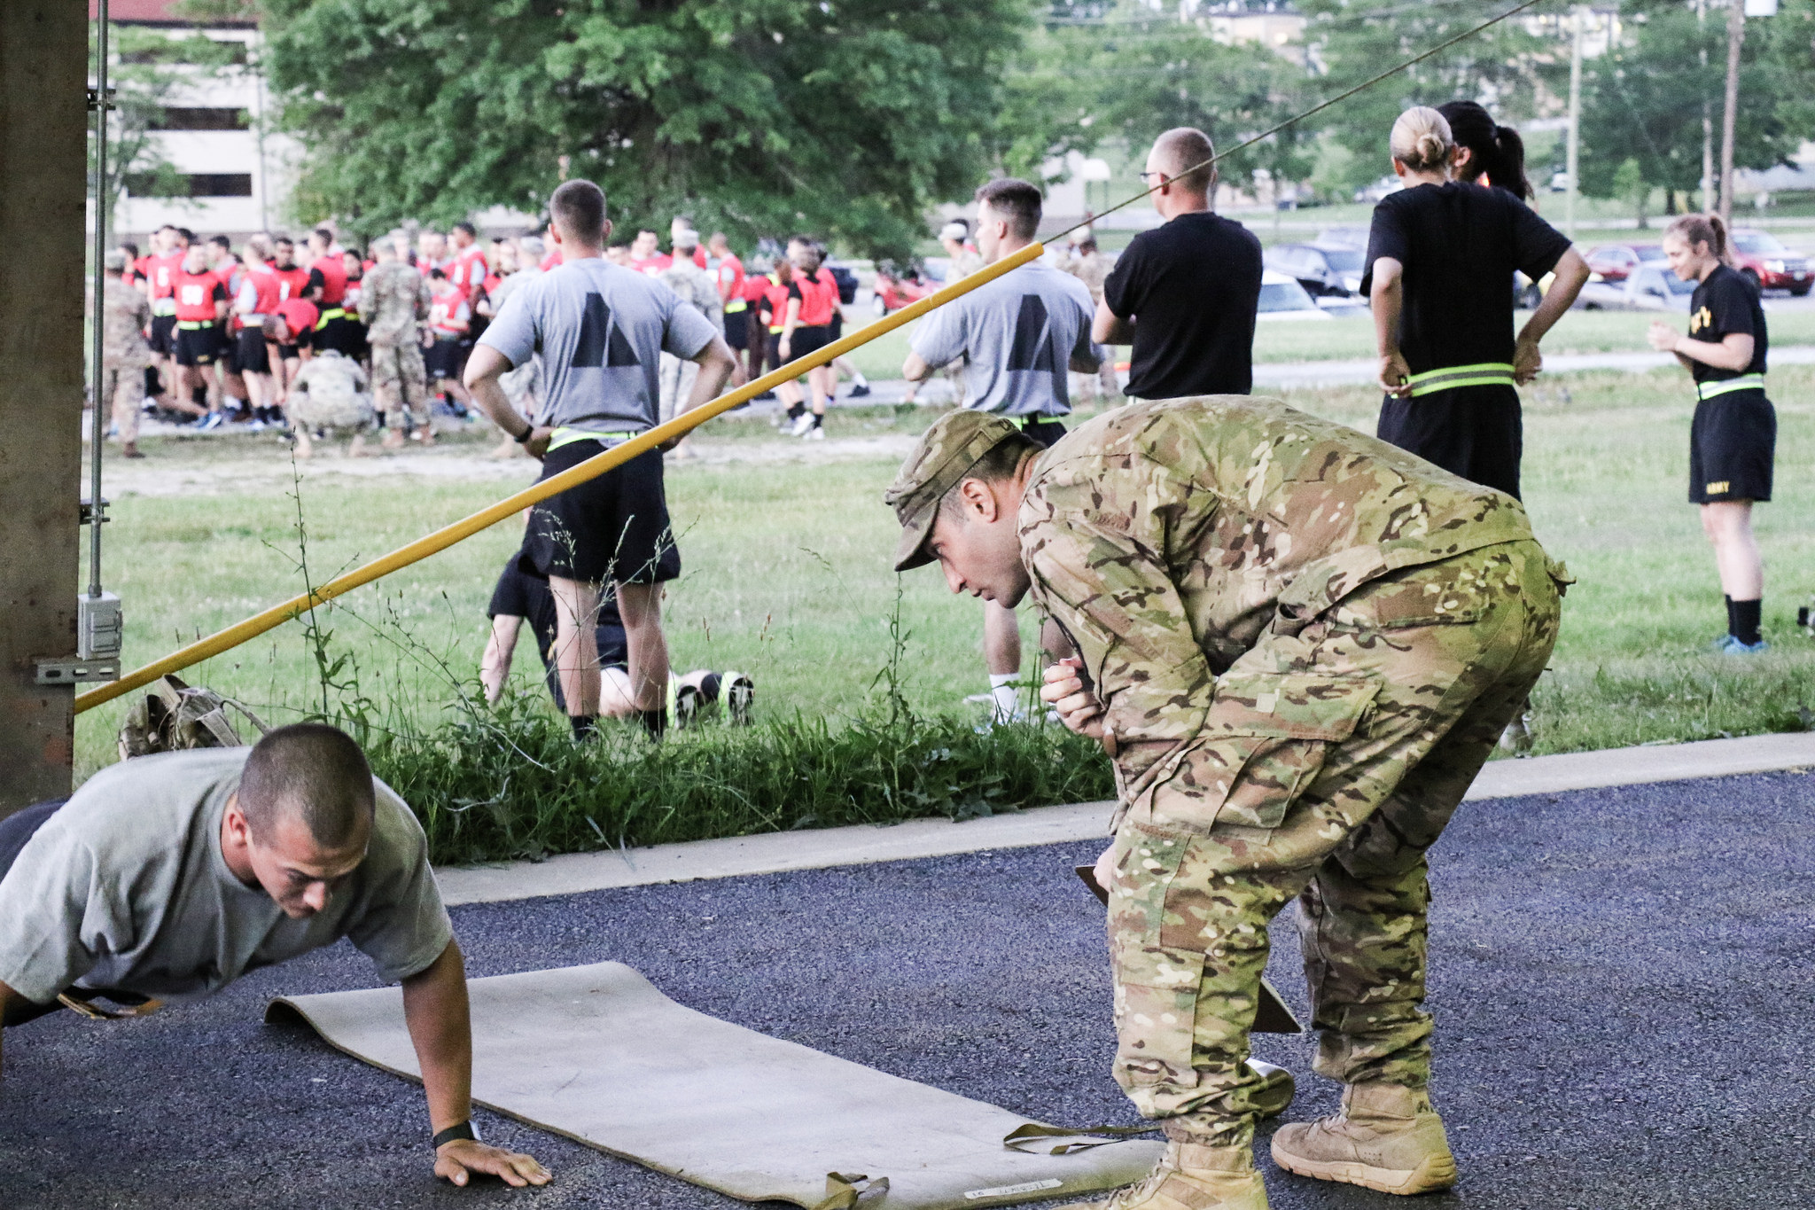
M 1399 352 L 1412 374 L 1510 363 L 1514 270 L 1537 281 L 1568 249 L 1568 236 L 1505 189 L 1414 185 L 1374 207 L 1361 294 L 1381 256 L 1405 267 Z

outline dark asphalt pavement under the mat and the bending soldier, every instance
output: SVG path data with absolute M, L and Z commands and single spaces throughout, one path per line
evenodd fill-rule
M 1094 844 L 461 907 L 476 974 L 628 961 L 706 1012 L 1051 1121 L 1133 1121 Z M 1437 1099 L 1465 1183 L 1419 1206 L 1802 1210 L 1815 1188 L 1815 776 L 1477 802 L 1439 847 Z M 1296 945 L 1272 976 L 1301 1001 Z M 136 1023 L 7 1034 L 0 1206 L 721 1208 L 526 1127 L 557 1183 L 428 1177 L 414 1087 L 290 1029 L 278 990 L 368 983 L 339 947 Z M 1301 1003 L 1300 1003 L 1301 1007 Z M 1309 1072 L 1309 1041 L 1261 1058 Z M 1314 1078 L 1300 1108 L 1329 1112 Z M 702 1107 L 710 1114 L 710 1107 Z M 1276 1210 L 1405 1203 L 1269 1168 Z

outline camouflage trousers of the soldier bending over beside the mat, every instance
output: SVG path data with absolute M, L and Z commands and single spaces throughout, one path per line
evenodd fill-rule
M 1543 673 L 1563 582 L 1534 541 L 1486 546 L 1374 581 L 1218 677 L 1202 735 L 1227 780 L 1138 798 L 1114 842 L 1114 1074 L 1169 1136 L 1252 1141 L 1249 1027 L 1294 896 L 1316 1070 L 1428 1081 L 1425 851 Z

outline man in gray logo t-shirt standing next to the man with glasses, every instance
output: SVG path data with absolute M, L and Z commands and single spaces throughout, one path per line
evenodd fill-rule
M 976 190 L 976 250 L 986 265 L 1033 243 L 1040 227 L 1040 190 L 1027 181 L 989 181 Z M 1011 268 L 960 299 L 946 303 L 913 334 L 902 376 L 918 383 L 966 359 L 964 406 L 1006 415 L 1042 446 L 1065 435 L 1071 414 L 1069 372 L 1094 374 L 1104 350 L 1091 343 L 1091 290 L 1071 274 L 1033 261 Z M 989 666 L 991 715 L 1024 717 L 1020 626 L 1015 611 L 984 602 L 984 662 Z

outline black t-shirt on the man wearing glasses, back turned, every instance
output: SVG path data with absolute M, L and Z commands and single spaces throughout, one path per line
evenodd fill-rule
M 1245 395 L 1254 388 L 1260 239 L 1200 210 L 1134 236 L 1104 281 L 1104 301 L 1134 317 L 1134 399 Z

